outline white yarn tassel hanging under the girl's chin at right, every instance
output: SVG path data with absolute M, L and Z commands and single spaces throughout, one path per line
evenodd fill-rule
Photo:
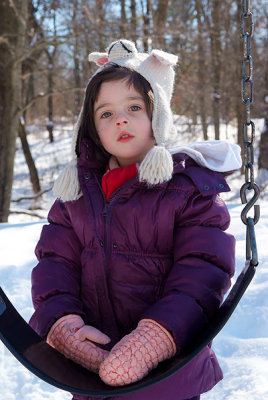
M 169 181 L 173 172 L 173 160 L 164 146 L 154 146 L 139 167 L 140 181 L 151 185 Z

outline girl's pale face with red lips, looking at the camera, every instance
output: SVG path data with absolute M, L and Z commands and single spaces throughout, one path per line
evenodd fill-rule
M 101 84 L 94 122 L 103 147 L 122 167 L 141 163 L 155 144 L 144 99 L 125 80 Z

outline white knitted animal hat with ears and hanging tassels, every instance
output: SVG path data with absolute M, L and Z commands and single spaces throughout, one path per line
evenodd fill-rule
M 154 94 L 152 129 L 156 145 L 141 162 L 139 179 L 151 185 L 168 181 L 172 176 L 173 161 L 167 148 L 175 141 L 176 134 L 170 101 L 175 77 L 173 66 L 178 57 L 161 50 L 152 50 L 150 54 L 138 53 L 133 42 L 122 39 L 111 43 L 107 53 L 89 54 L 88 60 L 100 66 L 95 74 L 111 63 L 135 70 L 150 83 Z M 73 136 L 72 162 L 62 171 L 53 188 L 54 194 L 62 201 L 76 200 L 81 196 L 75 153 L 81 115 L 82 112 Z

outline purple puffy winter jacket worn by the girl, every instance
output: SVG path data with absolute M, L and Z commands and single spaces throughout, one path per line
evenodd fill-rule
M 83 141 L 83 196 L 57 200 L 43 227 L 30 324 L 46 337 L 58 318 L 79 314 L 112 338 L 111 348 L 140 319 L 151 318 L 172 333 L 180 352 L 218 309 L 234 274 L 235 241 L 224 232 L 230 218 L 218 195 L 228 185 L 222 174 L 176 154 L 169 182 L 148 187 L 134 177 L 106 202 L 103 166 L 89 149 Z M 183 400 L 220 379 L 208 346 L 171 377 L 113 399 Z

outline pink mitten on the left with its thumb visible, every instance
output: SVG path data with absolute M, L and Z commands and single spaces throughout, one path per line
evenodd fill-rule
M 85 325 L 79 315 L 66 315 L 50 329 L 47 343 L 77 364 L 98 373 L 109 354 L 95 343 L 109 343 L 110 338 L 93 326 Z M 93 343 L 94 342 L 94 343 Z

